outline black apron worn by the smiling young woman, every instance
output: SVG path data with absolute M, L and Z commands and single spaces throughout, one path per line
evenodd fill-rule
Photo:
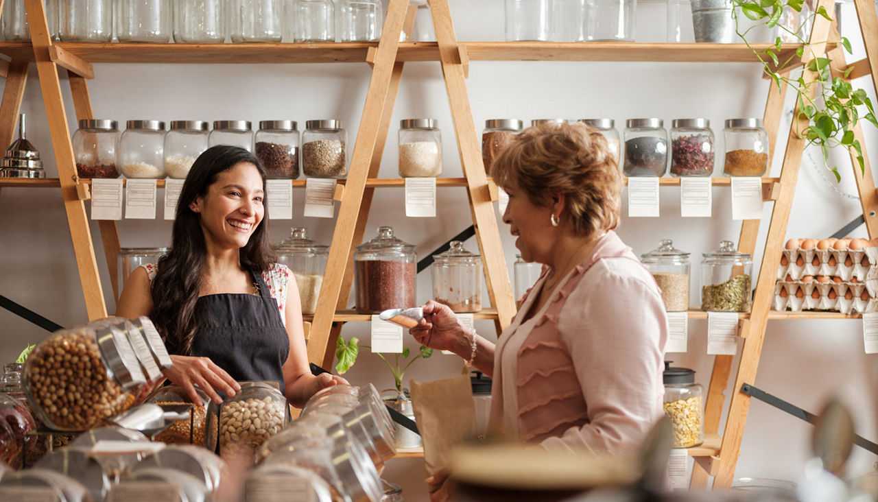
M 284 393 L 283 366 L 290 338 L 263 275 L 253 272 L 259 295 L 222 293 L 198 298 L 200 316 L 192 355 L 209 357 L 239 382 L 277 382 Z M 285 395 L 285 393 L 284 393 Z

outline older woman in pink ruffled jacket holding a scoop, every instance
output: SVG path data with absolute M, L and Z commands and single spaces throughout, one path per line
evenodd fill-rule
M 503 221 L 515 247 L 543 274 L 496 345 L 433 301 L 410 333 L 492 376 L 492 424 L 520 440 L 637 448 L 662 415 L 667 327 L 658 286 L 613 231 L 615 155 L 592 127 L 547 124 L 519 134 L 491 174 L 509 194 Z

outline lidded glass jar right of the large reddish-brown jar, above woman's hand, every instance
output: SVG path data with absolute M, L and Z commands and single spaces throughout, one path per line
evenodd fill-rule
M 433 299 L 453 312 L 482 310 L 482 261 L 452 240 L 444 253 L 433 256 Z

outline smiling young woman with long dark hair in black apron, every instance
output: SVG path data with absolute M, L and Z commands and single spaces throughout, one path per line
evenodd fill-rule
M 308 368 L 295 278 L 274 262 L 265 170 L 239 147 L 205 150 L 180 193 L 171 250 L 134 269 L 116 315 L 149 316 L 171 354 L 165 377 L 195 402 L 197 384 L 217 403 L 236 381 L 275 381 L 293 405 L 341 377 Z

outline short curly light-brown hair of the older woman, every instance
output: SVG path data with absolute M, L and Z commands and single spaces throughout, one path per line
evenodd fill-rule
M 529 127 L 497 157 L 491 169 L 501 188 L 515 185 L 532 204 L 551 193 L 565 196 L 573 232 L 591 235 L 615 228 L 622 204 L 622 175 L 607 139 L 583 123 Z

